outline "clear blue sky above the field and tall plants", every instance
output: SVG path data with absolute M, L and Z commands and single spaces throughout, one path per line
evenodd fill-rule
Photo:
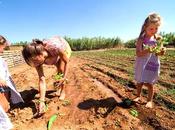
M 0 34 L 11 42 L 53 35 L 136 38 L 151 12 L 175 32 L 174 0 L 0 0 Z

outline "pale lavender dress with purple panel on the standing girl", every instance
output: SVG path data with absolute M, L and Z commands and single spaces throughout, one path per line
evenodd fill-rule
M 144 39 L 144 44 L 156 46 L 155 40 Z M 146 56 L 137 57 L 135 62 L 135 80 L 137 83 L 157 82 L 160 73 L 160 59 L 154 53 L 149 53 Z

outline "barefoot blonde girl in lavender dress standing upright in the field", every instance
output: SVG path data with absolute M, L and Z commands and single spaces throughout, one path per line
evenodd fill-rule
M 161 24 L 161 17 L 156 14 L 150 14 L 142 25 L 139 38 L 136 43 L 136 63 L 135 63 L 135 80 L 137 81 L 137 98 L 134 101 L 140 100 L 142 86 L 148 87 L 148 102 L 147 108 L 153 108 L 153 85 L 158 80 L 160 73 L 160 60 L 159 55 L 165 53 L 164 48 L 161 48 L 159 53 L 152 53 L 150 49 L 144 46 L 155 47 L 157 45 L 158 28 Z

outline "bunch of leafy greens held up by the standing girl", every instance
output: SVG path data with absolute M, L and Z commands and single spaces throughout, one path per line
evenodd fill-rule
M 151 53 L 155 53 L 158 54 L 160 53 L 162 50 L 165 50 L 165 47 L 163 47 L 164 45 L 168 44 L 168 39 L 167 38 L 158 38 L 157 39 L 157 45 L 156 46 L 149 46 L 149 45 L 145 45 L 143 44 L 145 49 L 149 49 L 149 51 Z

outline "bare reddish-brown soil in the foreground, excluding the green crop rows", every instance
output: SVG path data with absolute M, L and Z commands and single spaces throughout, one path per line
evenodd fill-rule
M 47 122 L 55 113 L 62 115 L 57 117 L 52 130 L 175 129 L 175 112 L 156 103 L 154 109 L 145 108 L 145 103 L 133 104 L 131 108 L 139 112 L 138 117 L 133 117 L 129 113 L 131 108 L 125 108 L 119 103 L 125 98 L 133 99 L 135 89 L 124 88 L 108 75 L 86 66 L 89 62 L 77 57 L 71 58 L 64 101 L 54 96 L 52 75 L 56 72 L 55 67 L 44 66 L 49 109 L 36 119 L 32 117 L 36 112 L 37 73 L 27 65 L 11 68 L 17 89 L 25 100 L 24 104 L 12 105 L 8 113 L 14 124 L 13 130 L 47 130 Z

